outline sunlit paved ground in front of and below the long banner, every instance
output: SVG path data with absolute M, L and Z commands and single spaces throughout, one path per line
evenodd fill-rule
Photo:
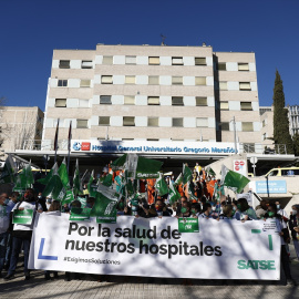
M 299 283 L 299 261 L 291 251 L 291 272 Z M 285 286 L 283 274 L 280 281 L 267 280 L 199 280 L 143 277 L 116 277 L 72 274 L 71 281 L 64 281 L 64 272 L 59 278 L 44 280 L 41 270 L 31 271 L 31 279 L 24 280 L 22 261 L 19 262 L 13 280 L 0 279 L 0 298 L 299 298 L 299 287 Z M 189 267 L 189 265 L 186 265 Z M 6 272 L 3 272 L 6 275 Z

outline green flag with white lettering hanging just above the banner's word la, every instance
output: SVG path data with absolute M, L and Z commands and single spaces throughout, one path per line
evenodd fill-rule
M 116 223 L 117 197 L 112 198 L 102 193 L 96 193 L 94 206 L 91 210 L 91 217 L 96 217 L 96 223 Z

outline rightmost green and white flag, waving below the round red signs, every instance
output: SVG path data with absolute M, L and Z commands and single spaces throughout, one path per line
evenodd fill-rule
M 250 182 L 246 176 L 235 173 L 233 171 L 229 171 L 225 165 L 221 167 L 221 176 L 224 186 L 231 189 L 233 192 L 240 193 L 246 185 Z

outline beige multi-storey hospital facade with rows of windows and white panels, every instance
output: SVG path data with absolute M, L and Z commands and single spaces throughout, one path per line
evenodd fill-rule
M 59 140 L 234 143 L 261 150 L 255 53 L 212 47 L 54 50 L 43 147 Z M 62 146 L 63 147 L 63 146 Z

